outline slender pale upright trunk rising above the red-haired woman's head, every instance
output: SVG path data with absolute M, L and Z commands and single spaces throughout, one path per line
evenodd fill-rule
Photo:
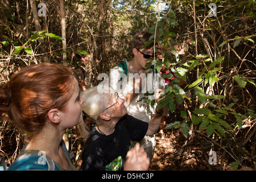
M 65 22 L 65 9 L 64 1 L 60 0 L 60 18 L 61 18 L 61 36 L 64 39 L 62 41 L 63 48 L 63 64 L 67 65 L 67 42 L 66 42 L 66 22 Z

